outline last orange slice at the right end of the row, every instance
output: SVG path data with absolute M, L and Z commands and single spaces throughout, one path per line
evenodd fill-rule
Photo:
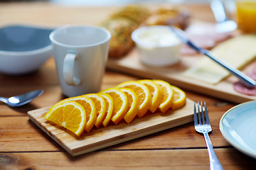
M 176 86 L 171 86 L 171 88 L 174 90 L 174 101 L 172 103 L 171 108 L 181 108 L 186 104 L 186 94 L 183 90 L 179 89 Z

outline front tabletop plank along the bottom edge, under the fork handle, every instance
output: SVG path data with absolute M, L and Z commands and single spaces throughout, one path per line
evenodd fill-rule
M 255 169 L 233 148 L 215 149 L 225 170 Z M 0 169 L 210 169 L 207 149 L 119 150 L 70 157 L 63 152 L 0 153 Z

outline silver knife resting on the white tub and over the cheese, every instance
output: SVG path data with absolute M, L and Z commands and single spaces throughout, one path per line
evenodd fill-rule
M 253 88 L 256 86 L 256 81 L 248 77 L 246 74 L 240 72 L 238 69 L 236 69 L 235 67 L 232 67 L 230 64 L 224 62 L 223 60 L 220 60 L 220 58 L 215 57 L 213 54 L 211 54 L 209 50 L 203 49 L 195 45 L 191 40 L 189 40 L 186 37 L 186 33 L 183 30 L 179 28 L 174 28 L 173 26 L 170 26 L 170 28 L 178 36 L 178 38 L 181 39 L 182 42 L 184 42 L 189 47 L 193 48 L 193 50 L 196 50 L 201 54 L 210 57 L 211 60 L 220 64 L 220 66 L 227 69 L 231 74 L 235 75 L 235 77 L 238 77 L 238 79 L 240 79 L 240 81 L 242 81 L 242 83 L 245 84 L 245 86 L 247 86 L 248 88 Z

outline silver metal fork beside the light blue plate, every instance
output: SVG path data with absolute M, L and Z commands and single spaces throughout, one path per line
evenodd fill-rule
M 210 120 L 208 116 L 208 111 L 206 108 L 206 102 L 204 102 L 204 110 L 203 110 L 203 103 L 198 105 L 198 111 L 196 111 L 196 102 L 194 103 L 194 125 L 196 132 L 203 133 L 203 137 L 206 140 L 206 146 L 208 149 L 209 159 L 210 159 L 210 169 L 223 169 L 221 166 L 214 150 L 213 145 L 210 142 L 210 137 L 208 135 L 208 132 L 212 131 L 212 128 L 210 127 Z

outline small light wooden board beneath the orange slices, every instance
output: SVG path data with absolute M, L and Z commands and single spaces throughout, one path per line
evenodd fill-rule
M 143 118 L 134 118 L 132 123 L 127 124 L 123 121 L 118 125 L 109 125 L 107 128 L 92 128 L 89 133 L 84 132 L 82 136 L 76 137 L 68 130 L 46 122 L 43 116 L 46 115 L 49 108 L 28 111 L 28 118 L 73 156 L 117 145 L 193 121 L 193 101 L 187 98 L 183 108 L 166 113 L 146 113 Z

